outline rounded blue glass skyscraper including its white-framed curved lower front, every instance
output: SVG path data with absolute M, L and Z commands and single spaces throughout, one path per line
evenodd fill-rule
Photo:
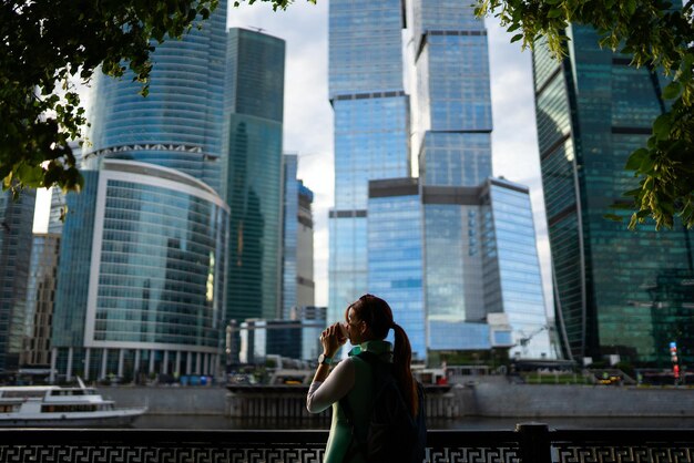
M 226 1 L 152 53 L 150 94 L 95 80 L 81 194 L 67 197 L 51 363 L 85 379 L 214 374 L 226 316 Z

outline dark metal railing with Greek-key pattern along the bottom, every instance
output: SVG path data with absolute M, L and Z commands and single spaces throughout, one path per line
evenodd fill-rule
M 313 463 L 327 431 L 0 430 L 0 462 Z M 692 463 L 686 430 L 430 431 L 427 463 Z

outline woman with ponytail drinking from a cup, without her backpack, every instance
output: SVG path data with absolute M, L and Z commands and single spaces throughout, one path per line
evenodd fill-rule
M 323 354 L 318 359 L 318 369 L 306 399 L 306 408 L 312 413 L 333 407 L 330 436 L 324 463 L 366 461 L 358 446 L 367 440 L 374 397 L 374 372 L 371 364 L 364 360 L 365 356 L 359 356 L 361 352 L 370 352 L 368 356 L 371 359 L 375 354 L 378 361 L 392 363 L 391 372 L 410 416 L 420 413 L 417 383 L 410 371 L 410 342 L 405 330 L 394 321 L 388 303 L 376 296 L 364 295 L 347 307 L 345 318 L 346 323 L 335 323 L 320 335 Z M 385 340 L 391 329 L 395 332 L 395 349 Z M 348 359 L 330 371 L 335 354 L 347 339 L 355 348 L 349 352 Z M 345 408 L 349 410 L 346 411 Z

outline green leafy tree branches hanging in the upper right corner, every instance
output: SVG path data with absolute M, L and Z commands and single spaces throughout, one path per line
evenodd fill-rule
M 663 0 L 477 0 L 476 13 L 494 14 L 511 42 L 532 48 L 545 37 L 557 58 L 565 54 L 569 23 L 595 28 L 601 47 L 633 56 L 632 65 L 662 69 L 673 81 L 663 90 L 671 110 L 653 122 L 646 146 L 635 151 L 625 165 L 640 177 L 633 198 L 630 228 L 649 217 L 656 228 L 672 228 L 680 216 L 694 226 L 694 27 L 692 6 L 672 8 Z

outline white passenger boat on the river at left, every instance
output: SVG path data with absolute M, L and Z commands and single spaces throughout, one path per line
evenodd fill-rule
M 116 409 L 78 378 L 78 388 L 59 385 L 0 387 L 0 426 L 125 426 L 147 409 Z

